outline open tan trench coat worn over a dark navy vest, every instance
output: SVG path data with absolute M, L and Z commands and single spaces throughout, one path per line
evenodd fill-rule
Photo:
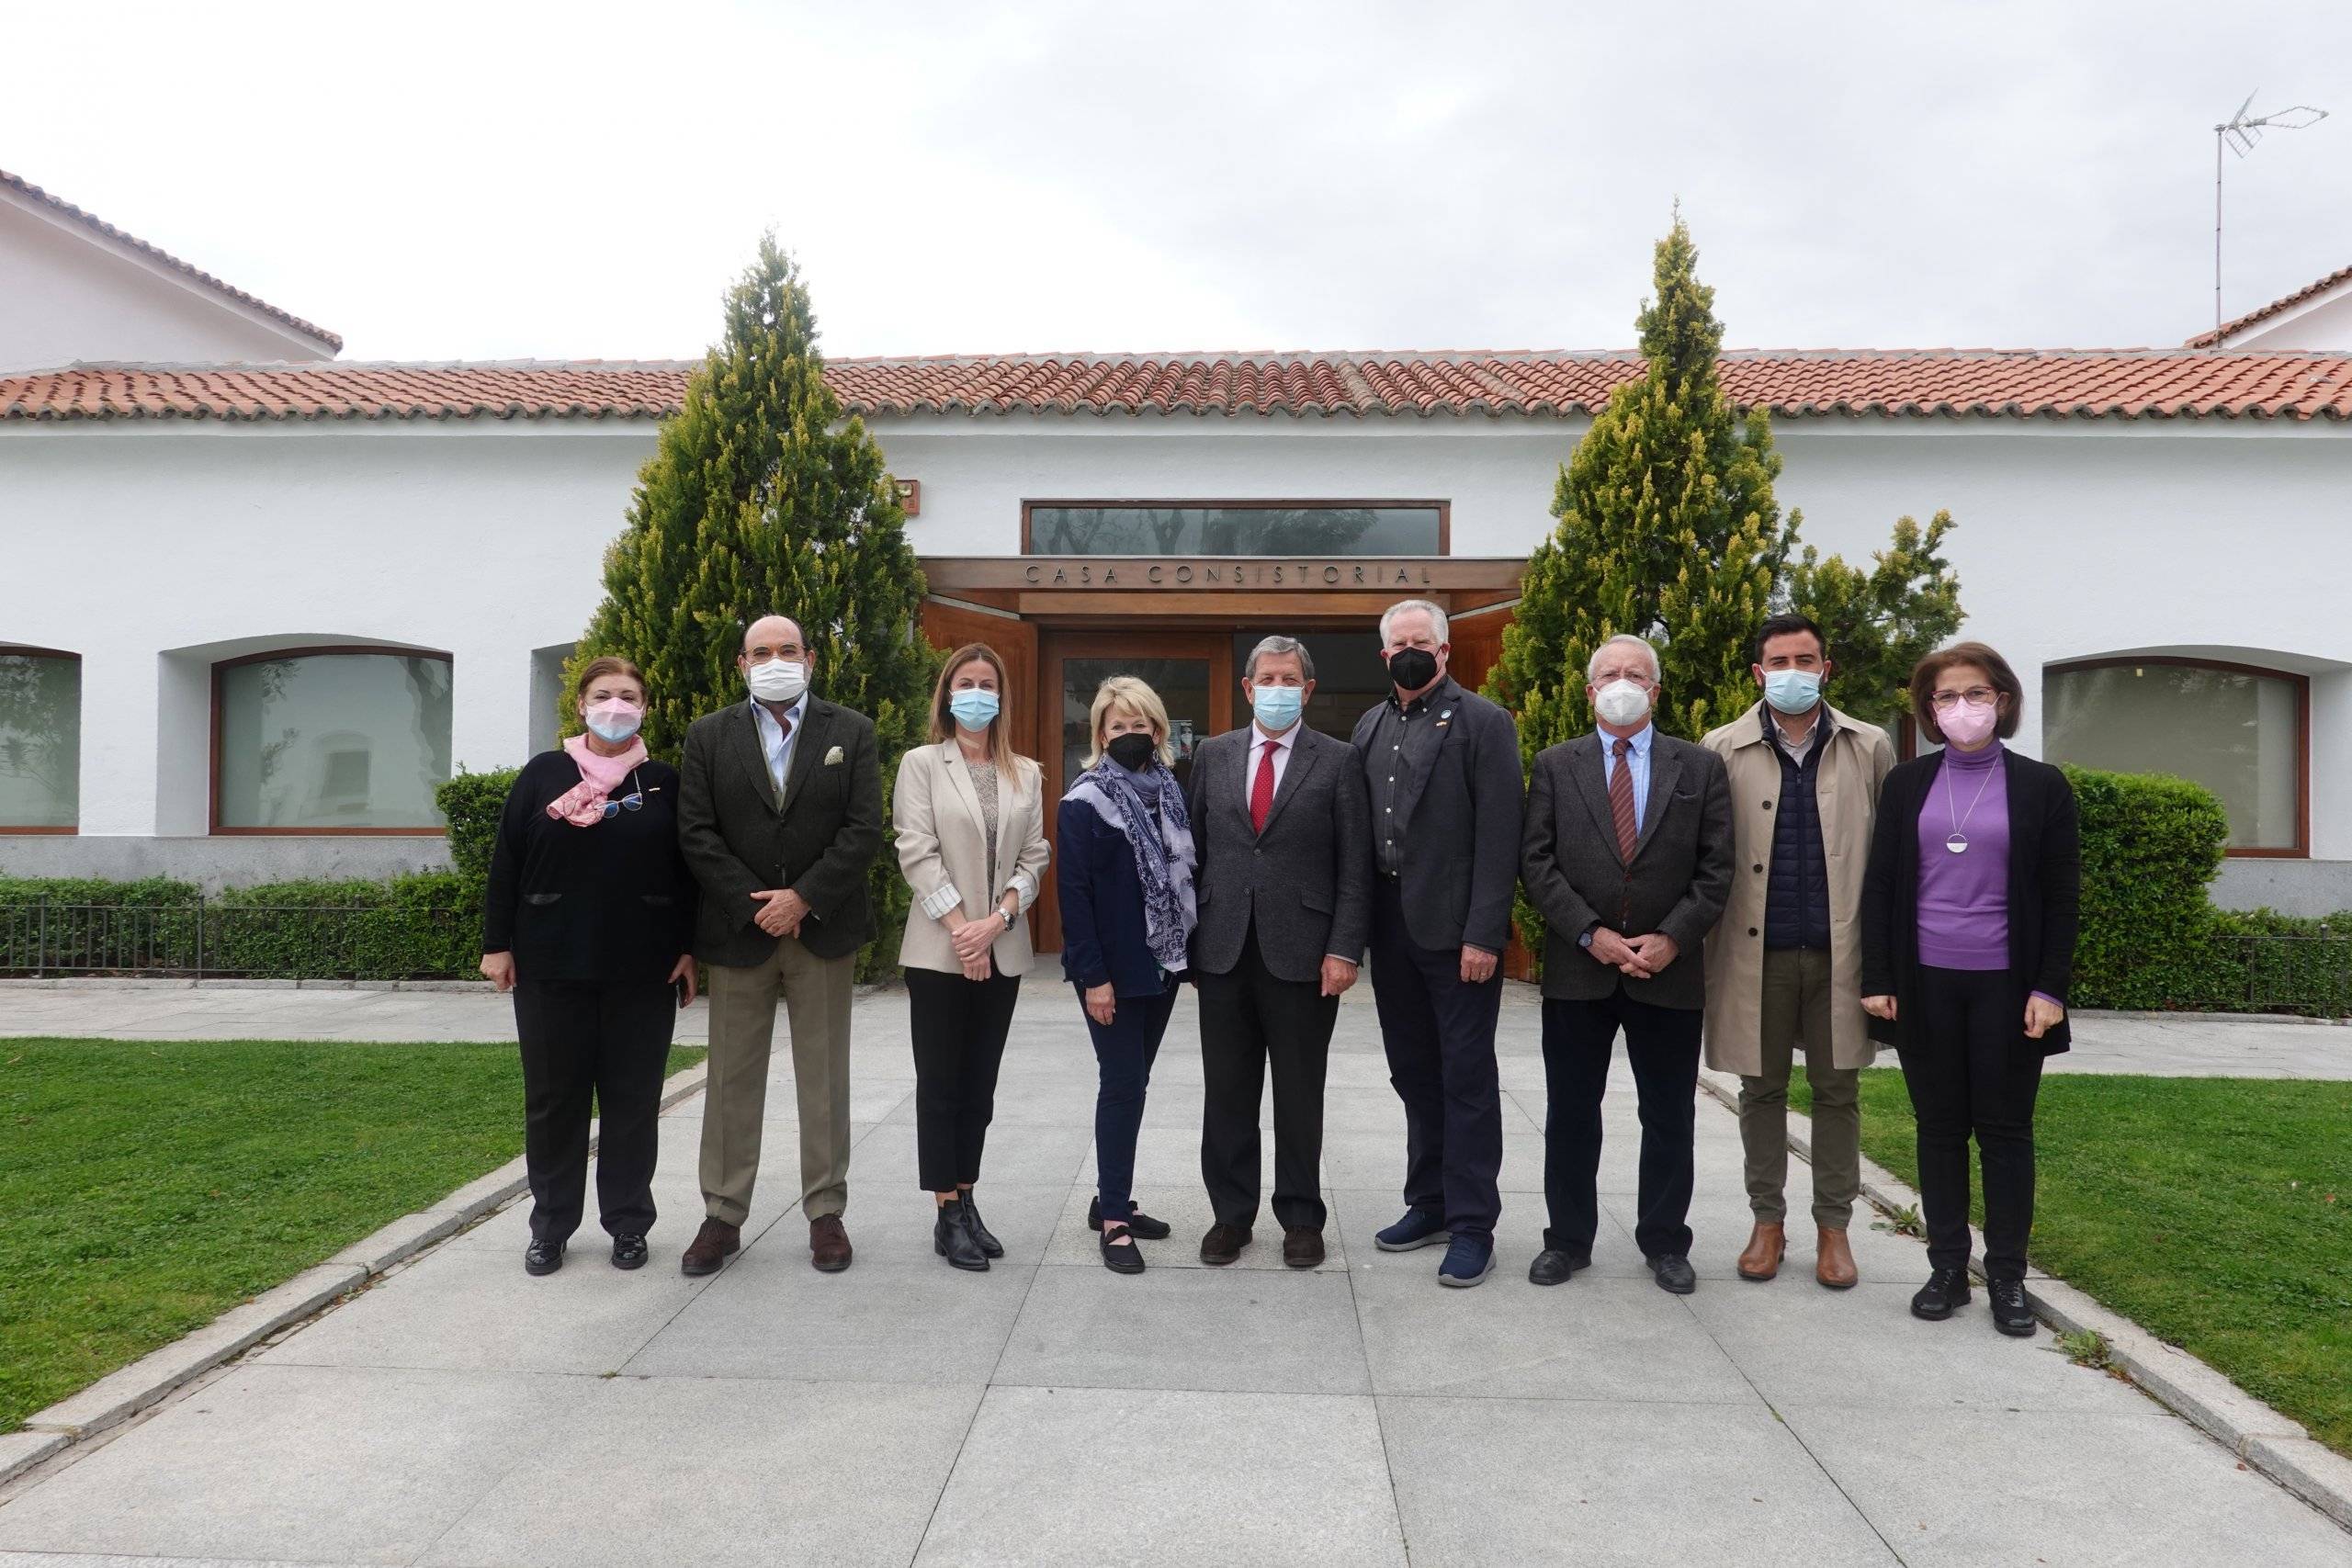
M 1757 1044 L 1764 1025 L 1764 889 L 1780 806 L 1780 755 L 1764 738 L 1762 712 L 1764 703 L 1757 703 L 1700 743 L 1731 771 L 1731 842 L 1738 851 L 1731 903 L 1708 936 L 1708 1067 L 1745 1077 L 1764 1070 Z M 1830 863 L 1830 1056 L 1837 1067 L 1867 1067 L 1877 1046 L 1870 1044 L 1860 994 L 1863 865 L 1896 748 L 1877 724 L 1849 719 L 1835 708 L 1830 717 L 1837 729 L 1813 773 L 1820 849 Z

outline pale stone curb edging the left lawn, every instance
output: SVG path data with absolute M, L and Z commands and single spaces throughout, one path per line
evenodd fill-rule
M 661 1086 L 661 1110 L 701 1093 L 708 1063 L 673 1074 Z M 595 1147 L 597 1128 L 588 1128 Z M 202 1378 L 223 1361 L 245 1354 L 282 1328 L 292 1328 L 334 1300 L 379 1279 L 393 1265 L 407 1262 L 428 1246 L 466 1229 L 529 1190 L 522 1157 L 466 1182 L 440 1204 L 405 1213 L 372 1237 L 353 1241 L 327 1262 L 240 1302 L 202 1328 L 120 1366 L 87 1389 L 68 1394 L 47 1410 L 26 1418 L 24 1432 L 0 1436 L 0 1481 L 40 1465 L 64 1446 L 115 1427 L 158 1403 L 174 1389 Z

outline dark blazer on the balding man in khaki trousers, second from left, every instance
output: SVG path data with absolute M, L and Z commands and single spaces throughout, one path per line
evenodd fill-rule
M 706 964 L 762 964 L 776 938 L 753 924 L 753 893 L 793 889 L 809 900 L 800 945 L 847 959 L 875 933 L 866 872 L 882 851 L 882 757 L 863 712 L 809 696 L 793 738 L 783 806 L 760 748 L 750 701 L 687 729 L 677 844 L 703 884 L 694 952 Z

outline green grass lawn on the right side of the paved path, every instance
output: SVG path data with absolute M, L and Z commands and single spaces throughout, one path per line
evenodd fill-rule
M 1865 1072 L 1863 1152 L 1917 1185 L 1912 1138 L 1903 1074 Z M 2053 1072 L 2034 1147 L 2042 1269 L 2352 1455 L 2352 1084 Z

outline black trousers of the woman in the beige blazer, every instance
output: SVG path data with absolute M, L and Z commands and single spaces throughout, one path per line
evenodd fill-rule
M 906 971 L 915 1039 L 915 1178 L 924 1192 L 981 1180 L 988 1121 L 997 1114 L 997 1067 L 1014 1027 L 1021 978 L 990 969 L 967 980 L 938 969 Z

